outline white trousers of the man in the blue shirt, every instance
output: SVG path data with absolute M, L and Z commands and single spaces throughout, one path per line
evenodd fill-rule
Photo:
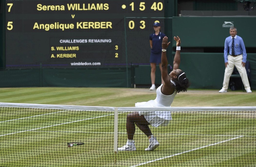
M 243 60 L 243 55 L 240 54 L 237 57 L 233 57 L 231 55 L 228 55 L 228 65 L 225 69 L 225 73 L 224 73 L 224 80 L 223 80 L 223 87 L 222 89 L 228 90 L 228 83 L 229 83 L 229 78 L 234 70 L 234 66 L 236 66 L 241 79 L 243 81 L 243 85 L 244 88 L 247 89 L 251 89 L 249 81 L 248 81 L 248 77 L 247 77 L 247 73 L 246 73 L 246 69 L 245 67 L 242 66 L 242 60 Z

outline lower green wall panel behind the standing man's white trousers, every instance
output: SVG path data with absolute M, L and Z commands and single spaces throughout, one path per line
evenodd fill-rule
M 251 88 L 256 89 L 256 54 L 248 54 L 251 64 Z M 225 72 L 223 53 L 182 53 L 180 64 L 190 88 L 221 89 Z

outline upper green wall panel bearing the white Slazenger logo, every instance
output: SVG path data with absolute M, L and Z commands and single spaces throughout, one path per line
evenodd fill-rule
M 234 24 L 246 47 L 256 47 L 256 17 L 173 17 L 172 34 L 180 37 L 182 47 L 224 48 L 230 36 L 229 27 L 222 27 L 225 21 Z

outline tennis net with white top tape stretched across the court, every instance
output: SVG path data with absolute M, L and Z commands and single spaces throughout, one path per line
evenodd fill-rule
M 0 103 L 0 166 L 256 166 L 256 107 L 96 107 Z M 131 112 L 170 112 L 167 126 L 150 126 L 160 143 L 136 127 Z M 70 142 L 84 143 L 68 147 Z

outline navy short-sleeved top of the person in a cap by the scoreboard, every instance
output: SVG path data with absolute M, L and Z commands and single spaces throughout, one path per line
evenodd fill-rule
M 149 40 L 152 40 L 152 49 L 151 53 L 159 54 L 162 52 L 162 41 L 165 37 L 165 34 L 161 31 L 158 35 L 155 35 L 155 33 L 150 34 Z

